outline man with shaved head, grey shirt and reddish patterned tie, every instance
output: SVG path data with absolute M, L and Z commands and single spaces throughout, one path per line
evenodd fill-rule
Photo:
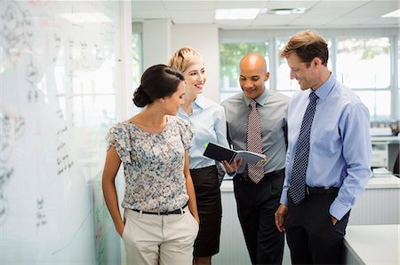
M 245 55 L 239 76 L 243 92 L 222 102 L 229 144 L 235 150 L 268 156 L 260 165 L 224 162 L 234 176 L 237 214 L 252 264 L 281 264 L 284 253 L 284 235 L 276 229 L 274 214 L 284 183 L 289 97 L 267 90 L 268 78 L 265 58 L 258 53 Z

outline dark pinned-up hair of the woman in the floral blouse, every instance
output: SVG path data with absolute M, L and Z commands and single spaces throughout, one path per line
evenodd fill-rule
M 141 75 L 140 86 L 133 93 L 133 103 L 143 107 L 157 98 L 169 97 L 178 90 L 183 81 L 183 74 L 170 66 L 150 66 Z

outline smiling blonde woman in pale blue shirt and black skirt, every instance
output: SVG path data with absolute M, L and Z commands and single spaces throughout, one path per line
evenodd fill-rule
M 200 229 L 195 241 L 195 264 L 211 264 L 220 251 L 220 181 L 215 160 L 203 156 L 204 144 L 214 142 L 228 147 L 223 108 L 202 95 L 206 81 L 204 62 L 194 49 L 176 51 L 169 66 L 185 76 L 185 103 L 178 116 L 189 121 L 194 136 L 189 149 L 189 168 L 196 191 Z

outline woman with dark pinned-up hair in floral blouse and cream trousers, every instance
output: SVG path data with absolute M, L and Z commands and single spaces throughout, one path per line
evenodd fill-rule
M 192 263 L 199 222 L 188 168 L 193 133 L 188 122 L 175 117 L 184 94 L 179 71 L 151 66 L 133 94 L 143 110 L 108 131 L 102 188 L 128 264 Z M 121 162 L 124 220 L 115 184 Z

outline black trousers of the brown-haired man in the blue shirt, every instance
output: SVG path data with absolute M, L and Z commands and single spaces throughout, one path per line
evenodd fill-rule
M 342 264 L 348 214 L 332 224 L 329 207 L 337 193 L 310 194 L 299 205 L 289 196 L 284 224 L 292 264 Z

